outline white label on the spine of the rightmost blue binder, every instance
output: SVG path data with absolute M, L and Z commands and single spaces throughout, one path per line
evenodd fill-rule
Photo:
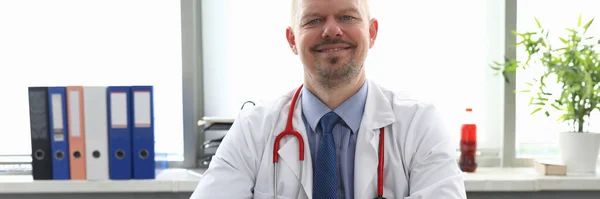
M 133 118 L 135 127 L 150 127 L 152 125 L 150 110 L 150 91 L 135 91 L 133 93 Z

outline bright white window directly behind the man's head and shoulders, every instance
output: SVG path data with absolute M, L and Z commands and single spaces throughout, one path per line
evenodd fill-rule
M 501 148 L 503 82 L 489 64 L 503 57 L 503 2 L 370 2 L 380 31 L 368 78 L 435 103 L 457 148 L 461 115 L 474 108 L 479 147 Z M 245 101 L 271 100 L 302 83 L 302 65 L 285 39 L 289 7 L 202 1 L 206 116 L 235 118 Z

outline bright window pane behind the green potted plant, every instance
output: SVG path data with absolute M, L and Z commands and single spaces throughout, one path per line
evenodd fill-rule
M 540 6 L 543 5 L 543 9 Z M 582 23 L 592 18 L 598 18 L 597 8 L 599 2 L 587 0 L 573 1 L 517 1 L 517 31 L 526 32 L 536 30 L 537 24 L 534 17 L 540 20 L 543 27 L 550 30 L 551 35 L 566 35 L 564 28 L 572 28 L 577 25 L 577 18 L 582 14 Z M 560 10 L 557 12 L 556 10 Z M 590 35 L 598 36 L 600 33 L 600 24 L 594 22 L 588 30 Z M 552 36 L 550 36 L 552 37 Z M 551 43 L 559 44 L 551 41 Z M 517 48 L 517 59 L 526 60 L 527 54 L 524 48 Z M 535 67 L 534 67 L 535 68 Z M 539 77 L 540 71 L 520 70 L 517 72 L 517 90 L 528 89 L 525 82 L 530 82 L 532 78 Z M 558 85 L 548 84 L 549 87 Z M 572 131 L 573 128 L 567 123 L 558 123 L 556 119 L 561 115 L 558 111 L 550 111 L 550 117 L 546 117 L 542 112 L 530 115 L 533 107 L 528 107 L 530 94 L 517 93 L 516 95 L 516 152 L 517 158 L 551 158 L 558 155 L 558 133 Z M 600 132 L 600 115 L 592 115 L 589 131 Z

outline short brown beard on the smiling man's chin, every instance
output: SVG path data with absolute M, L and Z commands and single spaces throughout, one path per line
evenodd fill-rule
M 347 84 L 360 74 L 362 64 L 356 63 L 354 55 L 345 63 L 340 63 L 340 59 L 341 57 L 336 56 L 325 60 L 317 60 L 318 81 L 323 88 L 332 89 Z M 337 66 L 338 64 L 342 64 L 342 66 Z

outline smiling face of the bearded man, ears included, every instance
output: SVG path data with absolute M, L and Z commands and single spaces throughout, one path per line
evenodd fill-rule
M 369 19 L 363 2 L 298 0 L 287 38 L 310 78 L 334 84 L 360 74 L 377 34 L 377 21 Z

